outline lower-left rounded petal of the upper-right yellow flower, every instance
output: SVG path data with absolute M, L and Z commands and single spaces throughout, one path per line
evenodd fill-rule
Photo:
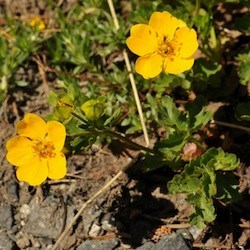
M 163 58 L 158 54 L 139 57 L 135 63 L 135 70 L 145 79 L 158 76 L 162 71 Z

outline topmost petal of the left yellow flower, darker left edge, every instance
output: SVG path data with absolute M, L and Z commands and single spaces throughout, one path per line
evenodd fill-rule
M 45 121 L 41 117 L 30 113 L 26 114 L 24 118 L 17 123 L 16 130 L 19 135 L 31 139 L 43 139 L 47 133 Z

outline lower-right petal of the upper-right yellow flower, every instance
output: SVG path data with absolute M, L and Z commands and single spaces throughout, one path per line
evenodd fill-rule
M 170 74 L 180 74 L 186 70 L 189 70 L 192 68 L 194 64 L 193 58 L 180 58 L 180 57 L 174 57 L 174 58 L 166 58 L 164 61 L 164 71 L 166 73 Z

